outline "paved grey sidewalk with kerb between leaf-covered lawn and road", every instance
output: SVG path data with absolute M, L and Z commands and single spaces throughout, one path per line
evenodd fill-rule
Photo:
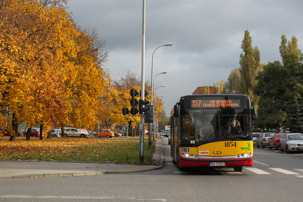
M 157 165 L 112 162 L 0 161 L 0 179 L 88 176 L 159 169 L 164 163 L 161 137 L 160 140 L 156 140 L 153 163 Z

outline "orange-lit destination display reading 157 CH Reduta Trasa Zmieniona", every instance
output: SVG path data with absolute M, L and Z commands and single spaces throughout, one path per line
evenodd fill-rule
M 240 100 L 191 100 L 191 108 L 239 108 Z

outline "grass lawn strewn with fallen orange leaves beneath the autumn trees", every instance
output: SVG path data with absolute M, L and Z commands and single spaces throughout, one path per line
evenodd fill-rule
M 148 136 L 144 137 L 144 163 L 152 165 L 155 145 L 148 149 Z M 88 161 L 139 164 L 139 138 L 78 138 L 51 139 L 31 137 L 0 137 L 0 160 L 24 161 Z

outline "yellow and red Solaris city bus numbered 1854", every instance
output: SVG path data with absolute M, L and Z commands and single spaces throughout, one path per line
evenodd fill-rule
M 180 171 L 188 167 L 253 165 L 251 120 L 257 111 L 249 96 L 187 95 L 171 110 L 171 157 Z

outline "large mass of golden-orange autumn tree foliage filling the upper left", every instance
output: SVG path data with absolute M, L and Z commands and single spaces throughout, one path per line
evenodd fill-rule
M 0 2 L 0 109 L 10 109 L 12 125 L 95 127 L 97 98 L 110 85 L 105 43 L 77 28 L 62 5 L 46 2 Z

